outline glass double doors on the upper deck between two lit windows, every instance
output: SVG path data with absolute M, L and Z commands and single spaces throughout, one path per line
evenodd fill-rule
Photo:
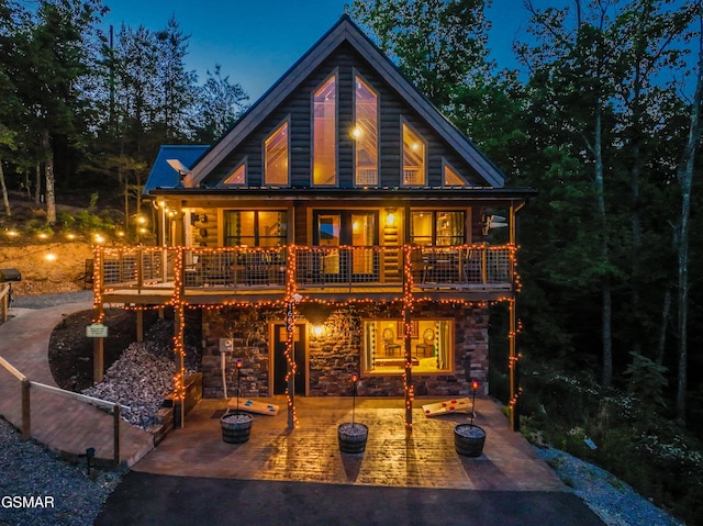
M 313 244 L 334 248 L 323 256 L 325 281 L 346 283 L 378 280 L 379 257 L 372 248 L 378 245 L 378 212 L 316 211 L 313 221 Z

